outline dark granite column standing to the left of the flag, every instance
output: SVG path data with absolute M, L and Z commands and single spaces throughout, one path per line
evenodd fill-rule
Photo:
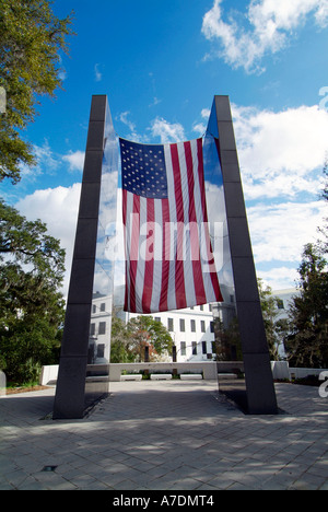
M 93 96 L 54 419 L 79 419 L 85 376 L 98 231 L 102 168 L 108 116 L 106 96 Z

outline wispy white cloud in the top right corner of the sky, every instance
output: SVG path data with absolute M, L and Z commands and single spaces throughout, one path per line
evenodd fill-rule
M 328 23 L 328 0 L 250 0 L 246 15 L 230 12 L 227 22 L 221 3 L 223 0 L 214 0 L 203 16 L 203 35 L 219 43 L 208 57 L 219 56 L 247 72 L 263 71 L 265 55 L 282 50 L 311 14 L 318 26 Z

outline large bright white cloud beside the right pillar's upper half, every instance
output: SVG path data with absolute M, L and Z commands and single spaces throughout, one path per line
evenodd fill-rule
M 283 112 L 232 105 L 247 199 L 317 194 L 328 151 L 328 113 L 318 106 Z

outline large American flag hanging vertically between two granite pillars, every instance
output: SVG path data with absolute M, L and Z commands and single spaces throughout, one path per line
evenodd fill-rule
M 208 229 L 202 139 L 162 146 L 119 141 L 125 311 L 150 314 L 222 302 Z

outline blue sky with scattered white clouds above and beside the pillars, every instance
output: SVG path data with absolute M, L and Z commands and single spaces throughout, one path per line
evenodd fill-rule
M 202 135 L 214 94 L 229 94 L 258 275 L 274 289 L 293 286 L 327 216 L 318 193 L 328 0 L 57 0 L 54 9 L 75 12 L 65 91 L 42 100 L 24 132 L 38 165 L 0 195 L 47 222 L 69 266 L 92 94 L 108 95 L 119 136 L 151 143 Z

